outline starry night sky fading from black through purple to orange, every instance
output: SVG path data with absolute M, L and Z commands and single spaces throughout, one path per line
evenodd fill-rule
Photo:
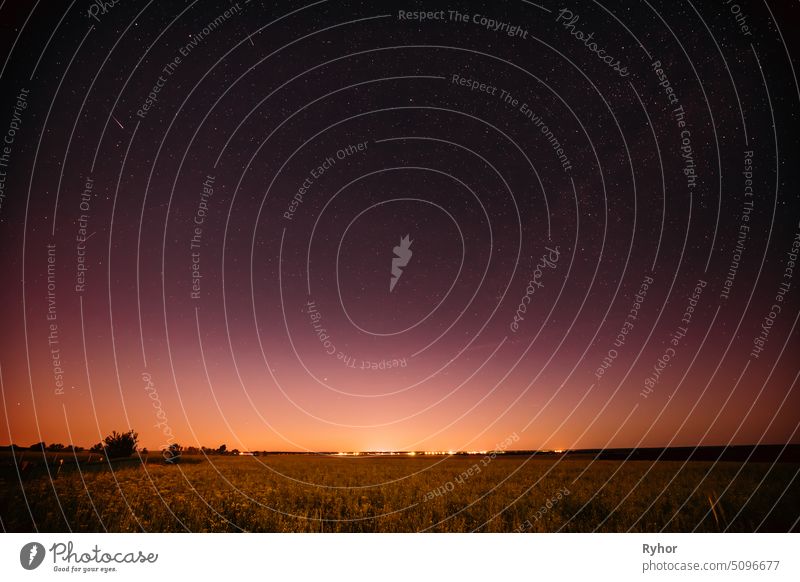
M 0 443 L 800 442 L 796 3 L 112 4 L 0 4 Z

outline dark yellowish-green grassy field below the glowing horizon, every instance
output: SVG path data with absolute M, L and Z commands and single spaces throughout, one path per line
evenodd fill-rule
M 38 455 L 41 459 L 41 454 Z M 64 459 L 64 463 L 59 461 Z M 800 465 L 455 457 L 2 458 L 5 531 L 797 530 Z M 51 479 L 47 469 L 53 474 Z M 763 479 L 763 483 L 762 483 Z

